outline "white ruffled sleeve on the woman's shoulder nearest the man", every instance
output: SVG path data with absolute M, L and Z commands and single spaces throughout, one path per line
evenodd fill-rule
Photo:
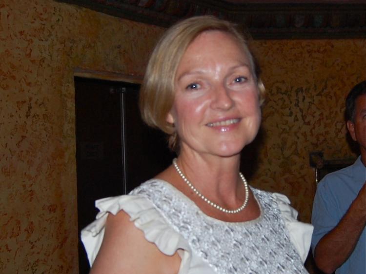
M 289 231 L 290 240 L 303 262 L 305 262 L 310 249 L 313 226 L 297 220 L 298 212 L 290 206 L 290 200 L 285 195 L 273 193 L 272 196 L 275 197 L 282 217 L 285 220 L 285 226 Z

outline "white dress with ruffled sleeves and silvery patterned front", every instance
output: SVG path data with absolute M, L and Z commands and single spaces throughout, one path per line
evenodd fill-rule
M 143 183 L 129 195 L 97 200 L 96 220 L 81 231 L 89 263 L 93 264 L 101 247 L 108 213 L 123 210 L 163 254 L 178 252 L 179 274 L 307 273 L 303 263 L 313 227 L 296 220 L 298 213 L 286 196 L 251 189 L 261 216 L 239 223 L 205 215 L 183 193 L 159 179 Z M 286 267 L 293 269 L 288 272 Z

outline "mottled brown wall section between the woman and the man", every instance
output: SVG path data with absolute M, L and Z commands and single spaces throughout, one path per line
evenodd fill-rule
M 315 171 L 309 153 L 353 158 L 346 141 L 345 99 L 366 79 L 366 40 L 255 41 L 267 97 L 263 145 L 253 184 L 287 195 L 310 222 Z

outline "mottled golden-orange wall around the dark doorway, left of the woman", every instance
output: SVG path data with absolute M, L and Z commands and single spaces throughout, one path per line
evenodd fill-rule
M 0 273 L 78 273 L 74 69 L 142 76 L 161 32 L 0 1 Z

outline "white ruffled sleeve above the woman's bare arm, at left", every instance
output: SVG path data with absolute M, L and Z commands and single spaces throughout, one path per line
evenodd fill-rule
M 163 254 L 178 252 L 182 259 L 179 274 L 207 273 L 204 271 L 207 270 L 207 265 L 192 256 L 188 242 L 166 223 L 148 199 L 133 195 L 109 197 L 97 200 L 96 207 L 100 210 L 96 220 L 81 231 L 81 240 L 90 265 L 93 265 L 101 248 L 108 213 L 116 215 L 123 210 L 135 226 L 142 230 L 146 240 L 155 243 Z

